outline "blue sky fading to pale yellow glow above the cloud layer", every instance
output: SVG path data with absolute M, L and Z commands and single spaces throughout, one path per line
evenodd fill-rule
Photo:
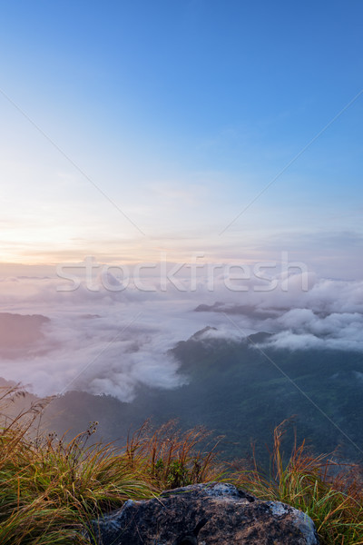
M 363 89 L 360 1 L 0 7 L 1 261 L 289 251 L 361 277 L 363 94 L 220 236 Z

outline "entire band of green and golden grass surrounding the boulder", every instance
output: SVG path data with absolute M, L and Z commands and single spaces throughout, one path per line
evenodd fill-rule
M 4 391 L 1 401 L 19 395 Z M 124 500 L 151 498 L 161 490 L 206 481 L 235 482 L 261 500 L 280 500 L 308 513 L 322 545 L 363 543 L 362 481 L 357 466 L 337 466 L 309 455 L 304 444 L 283 461 L 283 426 L 276 429 L 271 470 L 257 462 L 222 465 L 216 448 L 201 451 L 209 433 L 157 431 L 142 426 L 123 449 L 91 444 L 96 422 L 72 441 L 30 433 L 42 403 L 0 426 L 0 543 L 90 544 L 89 521 Z M 33 437 L 33 440 L 31 439 Z

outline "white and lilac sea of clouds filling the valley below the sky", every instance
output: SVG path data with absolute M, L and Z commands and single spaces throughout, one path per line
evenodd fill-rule
M 363 352 L 361 281 L 311 272 L 241 280 L 229 270 L 228 282 L 225 271 L 213 282 L 205 271 L 161 282 L 152 271 L 125 287 L 116 272 L 96 272 L 92 282 L 59 274 L 0 280 L 2 312 L 50 319 L 42 325 L 43 337 L 16 358 L 3 354 L 0 376 L 42 396 L 83 390 L 132 401 L 141 384 L 172 389 L 188 381 L 168 351 L 206 326 L 216 328 L 206 340 L 233 341 L 263 331 L 273 333 L 268 343 L 279 349 Z M 207 306 L 195 312 L 200 304 Z

